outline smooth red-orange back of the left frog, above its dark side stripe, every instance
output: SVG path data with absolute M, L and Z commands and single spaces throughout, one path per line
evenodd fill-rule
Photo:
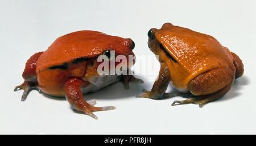
M 122 40 L 98 31 L 77 31 L 57 38 L 38 60 L 37 72 L 79 58 L 100 55 L 110 44 Z

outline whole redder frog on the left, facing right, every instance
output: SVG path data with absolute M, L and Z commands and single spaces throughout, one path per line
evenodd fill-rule
M 98 31 L 77 31 L 61 36 L 47 51 L 35 53 L 28 59 L 22 74 L 24 82 L 16 86 L 14 91 L 24 90 L 22 101 L 33 89 L 39 93 L 66 97 L 73 109 L 97 119 L 94 111 L 113 110 L 115 107 L 95 107 L 93 105 L 96 102 L 86 102 L 83 94 L 97 91 L 119 80 L 124 82 L 126 89 L 129 88 L 129 81 L 143 82 L 128 74 L 98 74 L 97 68 L 102 63 L 97 61 L 98 56 L 105 55 L 109 62 L 114 59 L 114 66 L 117 66 L 128 60 L 117 62 L 115 56 L 122 55 L 125 56 L 123 59 L 128 59 L 129 55 L 134 56 L 134 47 L 131 39 Z M 131 65 L 127 65 L 123 71 L 130 71 Z

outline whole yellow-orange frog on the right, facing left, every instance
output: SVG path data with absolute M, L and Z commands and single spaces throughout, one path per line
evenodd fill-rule
M 188 103 L 200 107 L 225 95 L 235 78 L 243 74 L 242 60 L 214 37 L 163 24 L 159 30 L 148 31 L 148 47 L 159 56 L 160 71 L 151 91 L 137 97 L 161 99 L 174 94 L 165 93 L 169 82 L 188 99 L 174 101 L 174 105 Z

